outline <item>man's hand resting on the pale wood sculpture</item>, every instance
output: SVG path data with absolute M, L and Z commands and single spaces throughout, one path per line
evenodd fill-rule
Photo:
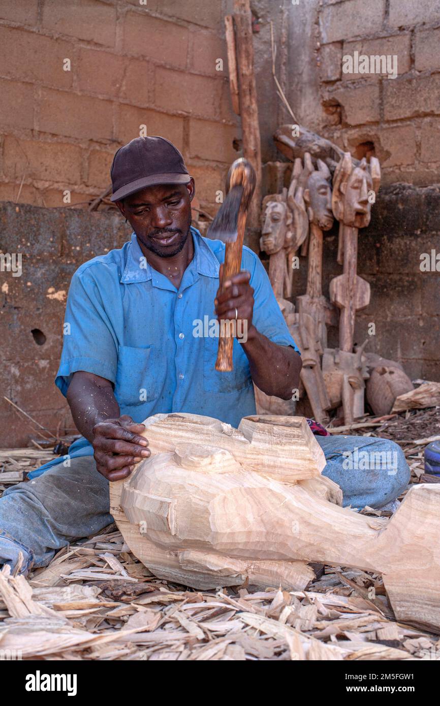
M 106 419 L 93 427 L 93 450 L 97 470 L 109 481 L 129 476 L 136 463 L 150 455 L 148 441 L 139 436 L 145 424 L 123 414 L 118 419 Z

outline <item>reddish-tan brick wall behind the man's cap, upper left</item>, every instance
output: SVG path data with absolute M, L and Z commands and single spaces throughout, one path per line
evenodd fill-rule
M 1 0 L 0 201 L 62 207 L 69 190 L 86 205 L 146 125 L 182 150 L 213 212 L 240 155 L 224 14 L 222 0 Z

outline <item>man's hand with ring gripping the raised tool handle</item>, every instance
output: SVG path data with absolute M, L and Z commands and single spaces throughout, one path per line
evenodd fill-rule
M 223 276 L 223 265 L 220 265 L 220 282 Z M 240 319 L 246 321 L 243 331 L 249 332 L 254 314 L 254 289 L 249 285 L 251 273 L 246 270 L 233 275 L 226 280 L 223 287 L 219 287 L 214 300 L 215 313 L 220 319 Z

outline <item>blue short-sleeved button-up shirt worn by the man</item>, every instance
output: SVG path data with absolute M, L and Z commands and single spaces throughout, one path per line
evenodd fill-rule
M 158 412 L 192 412 L 238 426 L 242 417 L 255 414 L 249 362 L 237 340 L 234 370 L 215 370 L 214 299 L 225 244 L 201 237 L 193 227 L 191 234 L 194 258 L 179 289 L 150 267 L 134 233 L 120 250 L 78 268 L 69 288 L 55 381 L 64 395 L 73 373 L 83 370 L 111 381 L 121 414 L 129 414 L 134 421 Z M 242 269 L 251 273 L 257 330 L 298 351 L 266 270 L 246 247 Z M 70 457 L 90 453 L 92 446 L 84 438 L 69 450 Z

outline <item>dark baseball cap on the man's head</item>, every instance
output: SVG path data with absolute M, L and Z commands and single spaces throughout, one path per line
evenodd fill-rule
M 136 137 L 119 148 L 113 157 L 113 193 L 111 201 L 119 201 L 145 186 L 188 184 L 189 174 L 177 147 L 165 137 Z

